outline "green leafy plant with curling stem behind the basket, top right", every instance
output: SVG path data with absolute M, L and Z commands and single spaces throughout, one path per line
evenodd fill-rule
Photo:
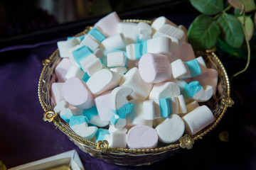
M 218 47 L 250 63 L 250 40 L 255 39 L 256 5 L 254 0 L 190 0 L 201 15 L 188 28 L 188 42 L 194 50 Z M 247 52 L 247 55 L 245 53 Z M 239 73 L 240 74 L 240 73 Z

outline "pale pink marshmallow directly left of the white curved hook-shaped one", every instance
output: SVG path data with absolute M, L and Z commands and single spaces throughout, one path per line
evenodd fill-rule
M 111 116 L 114 115 L 111 110 L 111 92 L 107 91 L 95 98 L 97 112 L 102 121 L 110 121 Z

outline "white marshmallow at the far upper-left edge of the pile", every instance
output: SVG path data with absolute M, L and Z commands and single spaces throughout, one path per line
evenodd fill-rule
M 78 45 L 80 42 L 76 38 L 72 38 L 70 40 L 62 40 L 58 41 L 58 50 L 60 52 L 60 57 L 68 57 L 69 52 L 68 50 L 72 47 L 75 47 L 75 45 Z

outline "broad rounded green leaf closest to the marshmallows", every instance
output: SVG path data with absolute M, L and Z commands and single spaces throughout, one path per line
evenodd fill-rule
M 201 14 L 188 28 L 188 42 L 194 50 L 213 48 L 220 35 L 220 27 L 213 17 Z

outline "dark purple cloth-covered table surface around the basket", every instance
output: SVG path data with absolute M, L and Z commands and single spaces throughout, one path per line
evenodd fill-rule
M 156 13 L 154 17 L 163 13 Z M 153 14 L 151 14 L 153 15 Z M 174 23 L 189 23 L 195 13 L 164 13 Z M 138 17 L 143 18 L 143 17 Z M 75 33 L 74 33 L 75 34 Z M 118 166 L 90 157 L 82 152 L 52 123 L 43 121 L 43 109 L 38 101 L 38 79 L 43 65 L 63 37 L 26 45 L 0 49 L 0 160 L 7 168 L 75 149 L 85 169 L 256 169 L 256 67 L 255 60 L 232 82 L 231 97 L 235 104 L 228 108 L 218 126 L 193 149 L 181 149 L 174 156 L 150 166 Z M 245 67 L 246 61 L 219 56 L 229 75 Z M 4 60 L 2 60 L 4 61 Z M 218 135 L 229 132 L 228 142 Z

